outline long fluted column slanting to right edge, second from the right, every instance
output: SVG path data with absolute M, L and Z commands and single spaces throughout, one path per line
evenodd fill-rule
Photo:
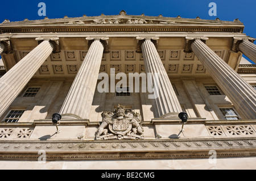
M 239 109 L 243 119 L 255 119 L 256 91 L 205 44 L 207 39 L 193 40 L 192 51 L 237 110 Z

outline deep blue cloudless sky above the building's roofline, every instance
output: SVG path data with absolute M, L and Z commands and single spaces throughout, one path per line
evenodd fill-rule
M 243 31 L 246 35 L 256 37 L 256 0 L 19 0 L 2 1 L 0 11 L 0 23 L 5 19 L 11 22 L 24 19 L 35 20 L 43 19 L 44 16 L 38 15 L 39 2 L 46 3 L 46 16 L 52 18 L 117 15 L 121 10 L 125 10 L 129 15 L 158 16 L 162 14 L 166 17 L 216 19 L 233 21 L 238 18 L 245 25 Z M 217 5 L 217 16 L 210 16 L 208 7 L 210 2 Z M 245 57 L 246 58 L 246 57 Z M 247 59 L 247 58 L 246 58 Z

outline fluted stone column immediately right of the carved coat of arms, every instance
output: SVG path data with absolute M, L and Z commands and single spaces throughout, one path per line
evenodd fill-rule
M 159 85 L 158 95 L 156 95 L 156 98 L 151 99 L 155 117 L 177 117 L 182 109 L 166 73 L 166 69 L 164 69 L 158 51 L 156 50 L 156 40 L 142 39 L 139 37 L 137 37 L 137 39 L 142 41 L 141 49 L 146 73 L 153 74 L 152 82 L 154 82 L 154 86 L 155 83 L 158 83 Z M 152 41 L 154 41 L 155 44 Z M 158 80 L 154 77 L 154 74 L 156 73 L 159 75 Z

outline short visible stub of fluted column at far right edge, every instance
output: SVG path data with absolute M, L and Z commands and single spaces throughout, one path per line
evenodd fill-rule
M 246 57 L 250 58 L 256 64 L 256 45 L 248 39 L 243 39 L 238 45 L 238 49 L 245 54 Z

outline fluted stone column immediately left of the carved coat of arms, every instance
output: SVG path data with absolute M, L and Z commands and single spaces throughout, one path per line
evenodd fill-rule
M 100 39 L 95 39 L 90 44 L 90 48 L 61 107 L 62 119 L 89 119 L 103 51 L 104 45 Z

